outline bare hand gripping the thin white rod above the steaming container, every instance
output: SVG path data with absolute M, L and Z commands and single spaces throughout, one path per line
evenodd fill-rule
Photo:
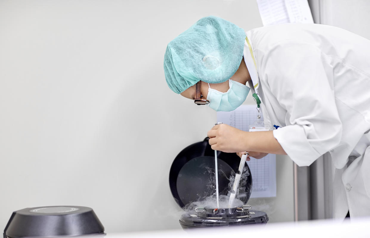
M 226 153 L 245 151 L 244 141 L 247 133 L 227 124 L 218 124 L 207 132 L 208 143 L 215 151 Z

